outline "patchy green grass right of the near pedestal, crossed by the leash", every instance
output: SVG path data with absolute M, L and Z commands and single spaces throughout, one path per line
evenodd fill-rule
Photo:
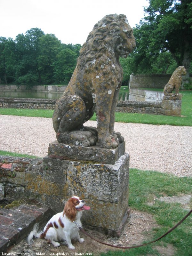
M 158 228 L 155 228 L 151 232 L 152 238 L 150 241 L 162 236 L 188 213 L 188 211 L 181 208 L 179 203 L 168 204 L 159 200 L 155 200 L 155 203 L 152 206 L 149 206 L 147 203 L 154 202 L 154 198 L 159 198 L 161 196 L 191 194 L 192 178 L 179 178 L 161 172 L 130 169 L 129 187 L 130 208 L 152 214 L 158 224 Z M 155 244 L 136 249 L 109 251 L 107 253 L 102 253 L 101 255 L 160 255 L 154 249 L 154 246 L 166 246 L 166 244 L 172 244 L 175 247 L 176 252 L 174 256 L 192 255 L 192 216 L 189 216 L 179 227 Z

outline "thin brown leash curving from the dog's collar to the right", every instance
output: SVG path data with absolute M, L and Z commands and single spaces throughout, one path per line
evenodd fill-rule
M 157 238 L 156 240 L 152 241 L 152 242 L 149 242 L 149 243 L 146 243 L 146 244 L 140 244 L 140 245 L 135 245 L 135 246 L 127 246 L 127 247 L 124 247 L 124 246 L 116 246 L 116 245 L 112 245 L 112 244 L 107 244 L 107 243 L 104 243 L 104 242 L 101 242 L 97 239 L 95 239 L 94 237 L 92 237 L 91 235 L 89 235 L 86 231 L 84 231 L 84 229 L 82 227 L 80 227 L 79 224 L 77 224 L 76 221 L 74 221 L 76 224 L 77 224 L 77 228 L 79 228 L 85 235 L 89 236 L 90 238 L 92 238 L 93 240 L 97 241 L 98 243 L 100 244 L 105 244 L 105 245 L 108 245 L 108 246 L 111 246 L 111 247 L 115 247 L 115 248 L 119 248 L 119 249 L 131 249 L 131 248 L 137 248 L 137 247 L 141 247 L 141 246 L 145 246 L 145 245 L 148 245 L 148 244 L 152 244 L 152 243 L 155 243 L 156 241 L 160 240 L 161 238 L 163 238 L 164 236 L 168 235 L 170 232 L 172 232 L 175 228 L 177 228 L 192 212 L 192 209 L 190 212 L 188 212 L 188 214 L 182 219 L 180 220 L 173 228 L 171 228 L 169 231 L 167 231 L 167 233 L 165 233 L 163 236 L 160 236 L 159 238 Z

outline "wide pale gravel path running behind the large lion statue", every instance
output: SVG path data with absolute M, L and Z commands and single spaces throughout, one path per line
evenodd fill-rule
M 130 168 L 192 177 L 192 127 L 116 123 L 115 130 L 126 141 Z M 0 150 L 43 157 L 54 140 L 51 118 L 0 115 Z

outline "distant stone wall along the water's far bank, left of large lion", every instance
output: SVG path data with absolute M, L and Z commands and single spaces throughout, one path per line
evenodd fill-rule
M 36 92 L 64 92 L 66 86 L 58 86 L 58 85 L 34 85 L 30 87 L 30 91 Z M 28 87 L 26 85 L 0 85 L 0 91 L 28 91 Z

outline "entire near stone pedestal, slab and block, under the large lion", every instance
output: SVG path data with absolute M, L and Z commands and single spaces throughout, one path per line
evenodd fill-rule
M 91 207 L 82 217 L 86 225 L 120 235 L 129 196 L 129 155 L 124 151 L 125 142 L 116 149 L 50 143 L 44 177 L 57 184 L 57 192 L 48 196 L 49 203 L 58 212 L 69 197 L 80 196 Z

